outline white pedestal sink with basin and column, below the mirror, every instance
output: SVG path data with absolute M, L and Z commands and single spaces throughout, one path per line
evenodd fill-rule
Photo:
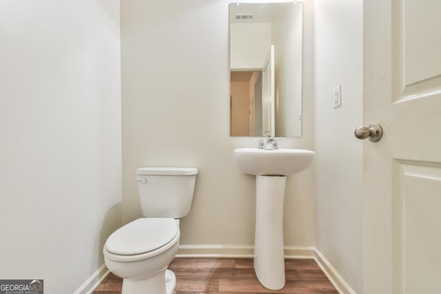
M 304 149 L 234 149 L 234 160 L 244 174 L 256 176 L 256 234 L 254 271 L 263 286 L 285 286 L 283 253 L 283 198 L 286 177 L 306 169 L 314 151 Z

